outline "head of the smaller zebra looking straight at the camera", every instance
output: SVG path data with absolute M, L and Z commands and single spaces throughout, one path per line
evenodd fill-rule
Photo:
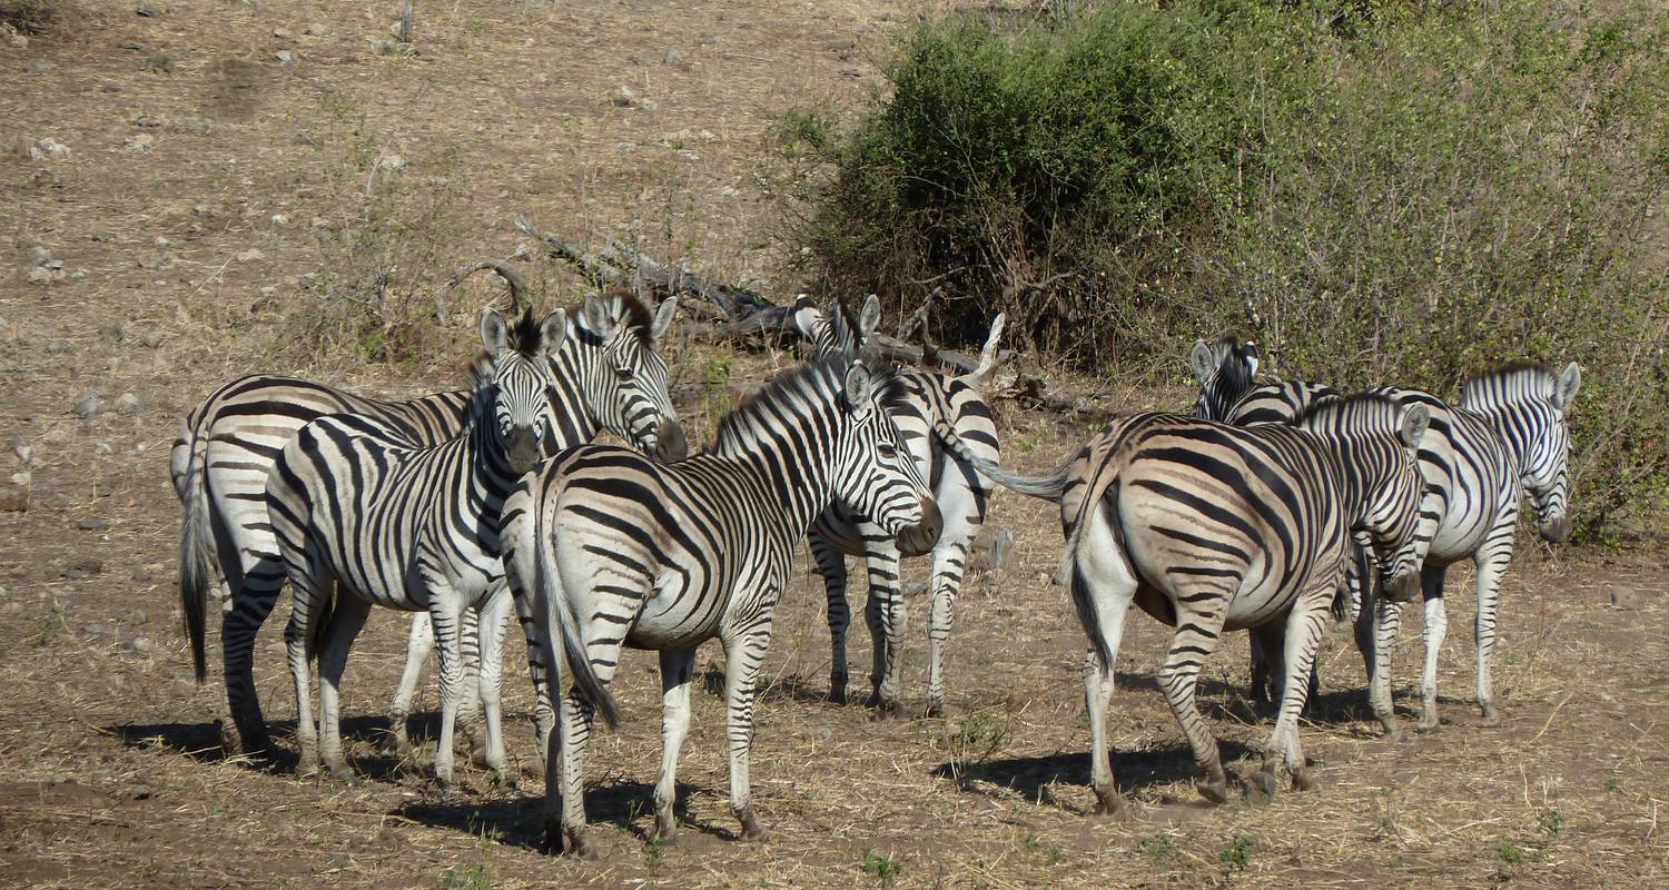
M 481 311 L 481 346 L 492 366 L 492 429 L 517 476 L 539 463 L 546 437 L 554 431 L 549 357 L 566 336 L 567 312 L 562 309 L 539 324 L 527 311 L 514 331 L 491 306 Z

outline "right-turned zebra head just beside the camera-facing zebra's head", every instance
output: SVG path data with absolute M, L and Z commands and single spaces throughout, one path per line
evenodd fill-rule
M 651 316 L 629 294 L 587 294 L 576 326 L 586 352 L 579 377 L 591 416 L 661 461 L 681 461 L 689 449 L 658 349 L 676 314 L 678 297 Z

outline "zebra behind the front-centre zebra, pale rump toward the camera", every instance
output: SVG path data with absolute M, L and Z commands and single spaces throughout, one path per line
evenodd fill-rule
M 858 316 L 858 339 L 868 337 L 880 321 L 880 301 L 871 296 Z M 793 322 L 816 349 L 841 349 L 834 329 L 821 309 L 801 296 L 793 306 Z M 846 703 L 846 628 L 851 611 L 846 604 L 846 556 L 863 556 L 870 573 L 870 599 L 865 623 L 873 646 L 870 686 L 876 715 L 898 713 L 900 651 L 905 633 L 905 608 L 898 583 L 900 556 L 933 553 L 933 583 L 928 628 L 928 716 L 945 713 L 943 663 L 950 640 L 951 614 L 961 591 L 968 549 L 985 524 L 990 483 L 973 464 L 941 444 L 940 429 L 960 439 L 961 449 L 996 463 L 1001 448 L 996 424 L 985 402 L 985 391 L 996 372 L 996 346 L 1003 334 L 1003 316 L 991 322 L 991 332 L 980 351 L 980 364 L 968 374 L 950 376 L 933 371 L 903 371 L 903 389 L 893 422 L 898 441 L 915 461 L 921 478 L 933 484 L 933 498 L 945 519 L 938 541 L 895 538 L 886 529 L 836 501 L 811 526 L 811 556 L 828 593 L 829 625 L 829 700 Z

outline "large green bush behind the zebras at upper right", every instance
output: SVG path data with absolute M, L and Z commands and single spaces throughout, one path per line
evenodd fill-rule
M 1439 394 L 1574 359 L 1599 531 L 1669 488 L 1666 35 L 1644 0 L 928 22 L 866 115 L 791 129 L 828 172 L 813 279 L 911 311 L 936 289 L 940 337 L 1008 312 L 1120 374 L 1222 331 L 1287 376 Z

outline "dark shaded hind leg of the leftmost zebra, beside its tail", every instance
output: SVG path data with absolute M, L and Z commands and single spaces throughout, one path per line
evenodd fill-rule
M 232 609 L 220 618 L 220 663 L 232 725 L 220 726 L 220 746 L 229 755 L 265 755 L 272 748 L 267 720 L 255 693 L 255 638 L 284 591 L 285 568 L 277 556 L 262 558 L 232 589 Z M 234 731 L 235 728 L 235 731 Z

